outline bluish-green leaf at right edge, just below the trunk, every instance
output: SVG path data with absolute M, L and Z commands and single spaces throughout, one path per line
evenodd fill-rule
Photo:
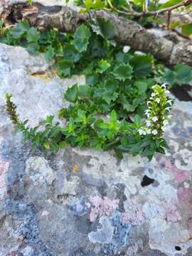
M 176 82 L 178 85 L 187 85 L 192 80 L 192 70 L 188 65 L 178 64 L 174 68 L 176 73 Z

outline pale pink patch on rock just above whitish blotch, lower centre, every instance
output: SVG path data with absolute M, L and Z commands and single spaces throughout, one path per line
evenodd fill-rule
M 119 206 L 119 199 L 110 199 L 107 197 L 90 196 L 91 213 L 90 221 L 95 221 L 102 215 L 110 216 Z

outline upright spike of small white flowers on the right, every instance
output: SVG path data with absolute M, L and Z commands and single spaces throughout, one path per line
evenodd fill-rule
M 147 102 L 148 109 L 145 110 L 146 121 L 144 126 L 138 129 L 140 135 L 152 134 L 155 137 L 161 137 L 164 129 L 171 115 L 171 107 L 173 105 L 173 100 L 171 100 L 167 95 L 169 95 L 169 90 L 166 90 L 166 85 L 154 85 L 152 87 L 154 92 L 151 93 L 149 102 Z

